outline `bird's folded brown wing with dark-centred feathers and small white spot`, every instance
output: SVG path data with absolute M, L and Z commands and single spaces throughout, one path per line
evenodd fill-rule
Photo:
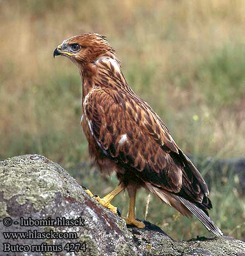
M 145 182 L 202 202 L 208 193 L 205 181 L 194 166 L 185 170 L 185 155 L 145 101 L 130 93 L 93 89 L 84 111 L 107 157 Z

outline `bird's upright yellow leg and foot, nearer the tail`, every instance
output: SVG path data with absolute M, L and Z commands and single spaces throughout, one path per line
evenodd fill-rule
M 129 195 L 129 209 L 128 209 L 128 216 L 125 218 L 127 225 L 133 225 L 138 228 L 145 228 L 145 224 L 142 221 L 137 221 L 135 218 L 135 199 L 136 199 L 136 191 L 135 187 L 130 187 L 128 189 Z

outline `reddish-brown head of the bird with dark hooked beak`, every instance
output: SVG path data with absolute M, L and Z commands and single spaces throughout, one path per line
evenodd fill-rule
M 70 58 L 77 66 L 84 67 L 102 56 L 115 56 L 105 36 L 86 33 L 69 37 L 54 50 L 54 57 L 63 55 Z

